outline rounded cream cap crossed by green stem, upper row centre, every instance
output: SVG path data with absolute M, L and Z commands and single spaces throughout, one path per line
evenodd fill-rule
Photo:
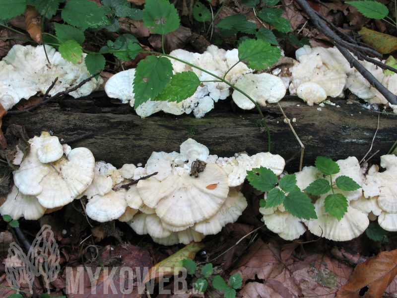
M 272 74 L 245 74 L 236 82 L 235 86 L 247 93 L 261 106 L 278 102 L 284 97 L 286 89 L 281 78 Z M 250 110 L 255 104 L 241 92 L 234 90 L 232 94 L 234 102 L 244 110 Z

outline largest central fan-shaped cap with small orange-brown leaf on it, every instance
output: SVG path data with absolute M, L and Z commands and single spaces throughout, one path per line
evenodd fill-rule
M 206 188 L 216 184 L 213 189 Z M 215 164 L 207 164 L 199 178 L 184 173 L 170 175 L 159 182 L 154 177 L 137 184 L 143 202 L 156 208 L 164 222 L 176 226 L 195 224 L 212 217 L 229 192 L 226 173 Z

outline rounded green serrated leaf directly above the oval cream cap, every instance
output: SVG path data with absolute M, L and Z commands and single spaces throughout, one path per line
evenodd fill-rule
M 281 50 L 262 39 L 244 41 L 238 47 L 239 59 L 250 69 L 260 71 L 278 62 Z

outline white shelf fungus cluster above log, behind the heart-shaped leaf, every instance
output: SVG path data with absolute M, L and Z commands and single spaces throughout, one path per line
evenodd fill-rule
M 189 62 L 219 77 L 225 76 L 229 68 L 233 67 L 225 76 L 225 79 L 232 84 L 244 74 L 253 72 L 253 70 L 249 69 L 244 63 L 238 63 L 237 49 L 225 51 L 211 45 L 202 54 L 178 49 L 172 51 L 170 56 Z M 195 94 L 179 103 L 149 100 L 141 104 L 136 109 L 136 113 L 142 118 L 159 111 L 174 115 L 181 115 L 183 113 L 190 114 L 193 112 L 196 118 L 201 118 L 205 113 L 214 108 L 214 102 L 229 96 L 229 85 L 226 83 L 213 82 L 211 80 L 216 80 L 216 78 L 212 75 L 192 68 L 175 59 L 170 60 L 174 68 L 174 74 L 176 72 L 193 71 L 199 77 L 200 81 L 203 82 L 197 88 Z M 113 75 L 105 85 L 107 95 L 111 98 L 121 99 L 123 103 L 129 102 L 130 105 L 133 106 L 135 101 L 133 93 L 134 75 L 134 69 Z

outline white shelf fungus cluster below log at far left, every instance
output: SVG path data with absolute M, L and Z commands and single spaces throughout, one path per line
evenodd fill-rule
M 1 215 L 36 220 L 46 209 L 62 207 L 82 193 L 94 177 L 94 156 L 87 148 L 71 149 L 43 132 L 29 140 L 29 153 L 13 160 L 14 186 L 0 207 Z M 19 150 L 19 149 L 17 149 Z

